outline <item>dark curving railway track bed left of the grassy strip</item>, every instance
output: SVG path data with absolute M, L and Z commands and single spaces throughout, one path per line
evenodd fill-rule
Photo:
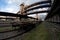
M 21 28 L 18 28 L 18 29 L 0 32 L 0 40 L 15 40 L 15 39 L 20 40 L 21 39 L 20 35 L 23 35 L 29 30 L 32 30 L 35 27 L 35 24 L 29 23 L 27 25 L 24 24 L 20 27 Z

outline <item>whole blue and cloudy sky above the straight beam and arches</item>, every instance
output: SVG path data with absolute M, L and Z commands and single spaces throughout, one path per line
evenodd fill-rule
M 21 3 L 24 2 L 25 5 L 30 5 L 39 1 L 45 1 L 45 0 L 0 0 L 0 11 L 17 13 L 20 9 L 19 5 Z M 41 15 L 46 15 L 46 13 L 43 13 Z

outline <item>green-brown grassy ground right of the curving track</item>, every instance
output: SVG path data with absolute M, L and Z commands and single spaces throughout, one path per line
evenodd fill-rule
M 54 23 L 42 22 L 33 30 L 25 33 L 22 40 L 60 40 L 60 29 Z

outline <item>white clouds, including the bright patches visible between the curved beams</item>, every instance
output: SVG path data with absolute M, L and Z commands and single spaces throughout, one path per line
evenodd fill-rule
M 21 3 L 24 2 L 25 5 L 30 5 L 30 4 L 33 4 L 38 1 L 45 1 L 45 0 L 4 0 L 4 2 L 7 5 L 4 6 L 4 8 L 1 7 L 0 11 L 17 13 L 20 10 L 19 5 Z M 48 8 L 42 8 L 42 9 L 38 9 L 37 11 L 43 11 L 43 10 L 47 10 L 47 9 Z M 36 11 L 36 10 L 33 10 L 33 11 Z M 41 16 L 41 15 L 43 15 L 43 16 Z M 41 13 L 41 14 L 39 14 L 39 17 L 41 16 L 41 18 L 43 17 L 43 19 L 44 19 L 45 15 L 47 15 L 47 13 Z M 29 16 L 36 18 L 36 14 L 29 15 Z

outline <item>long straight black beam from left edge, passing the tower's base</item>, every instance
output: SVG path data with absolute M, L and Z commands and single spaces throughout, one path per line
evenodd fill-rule
M 31 18 L 31 19 L 35 19 L 35 18 L 29 17 L 27 15 L 20 15 L 20 14 L 8 13 L 8 12 L 0 12 L 0 15 L 1 16 L 13 16 L 13 17 L 20 17 L 20 18 Z M 9 19 L 9 18 L 7 18 L 7 19 Z

